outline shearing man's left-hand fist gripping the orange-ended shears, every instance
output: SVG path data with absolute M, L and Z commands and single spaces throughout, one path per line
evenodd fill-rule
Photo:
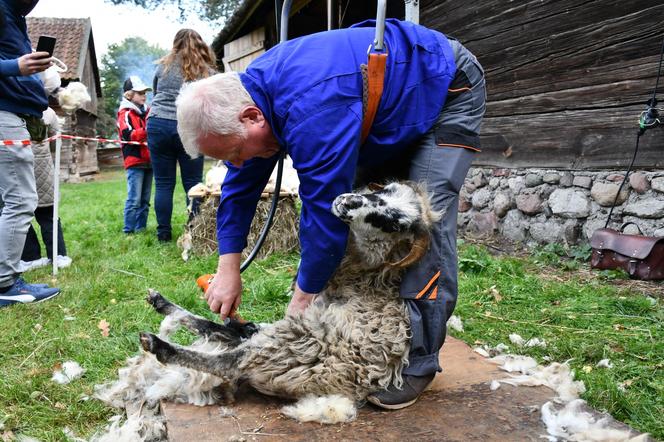
M 227 317 L 235 317 L 242 301 L 242 278 L 240 277 L 239 253 L 229 253 L 219 257 L 217 274 L 205 292 L 210 310 L 219 313 L 223 321 Z

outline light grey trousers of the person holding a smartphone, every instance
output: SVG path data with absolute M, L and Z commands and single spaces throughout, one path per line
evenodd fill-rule
M 29 140 L 25 121 L 0 111 L 0 141 Z M 14 284 L 25 237 L 37 208 L 31 146 L 0 143 L 0 287 Z

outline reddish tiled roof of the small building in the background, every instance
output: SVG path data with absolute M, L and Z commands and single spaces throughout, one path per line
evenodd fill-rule
M 60 74 L 63 80 L 80 81 L 83 78 L 88 48 L 97 94 L 101 94 L 99 67 L 89 18 L 28 17 L 28 34 L 33 47 L 37 47 L 40 35 L 55 37 L 53 56 L 69 68 Z

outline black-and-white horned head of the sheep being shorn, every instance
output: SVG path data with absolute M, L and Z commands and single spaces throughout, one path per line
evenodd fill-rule
M 373 188 L 378 190 L 339 195 L 332 203 L 332 213 L 350 226 L 356 249 L 367 264 L 408 267 L 426 253 L 429 232 L 439 216 L 423 189 L 413 182 Z M 404 242 L 409 252 L 390 263 Z

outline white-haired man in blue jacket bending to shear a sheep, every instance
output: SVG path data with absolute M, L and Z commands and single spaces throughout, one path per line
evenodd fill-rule
M 177 116 L 190 155 L 229 166 L 217 214 L 219 265 L 206 292 L 222 319 L 234 316 L 240 304 L 240 254 L 280 153 L 293 160 L 302 200 L 291 315 L 307 308 L 344 255 L 348 227 L 330 211 L 337 195 L 386 178 L 426 185 L 444 216 L 428 253 L 401 285 L 412 328 L 404 385 L 368 398 L 398 409 L 414 403 L 440 370 L 438 351 L 457 298 L 458 195 L 479 151 L 486 93 L 480 64 L 458 41 L 389 19 L 384 89 L 362 139 L 367 88 L 360 65 L 367 63 L 374 26 L 367 21 L 286 41 L 244 73 L 191 83 L 180 92 Z

